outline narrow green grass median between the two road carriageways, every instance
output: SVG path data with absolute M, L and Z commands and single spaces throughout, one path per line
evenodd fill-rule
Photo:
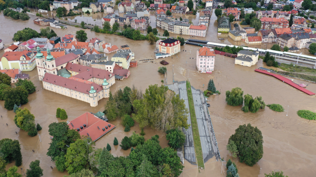
M 191 90 L 190 82 L 186 82 L 186 91 L 188 93 L 188 101 L 189 101 L 189 109 L 190 109 L 190 117 L 191 117 L 191 126 L 193 132 L 193 141 L 194 141 L 194 149 L 195 156 L 197 157 L 197 166 L 203 167 L 204 169 L 204 161 L 203 161 L 203 152 L 200 140 L 200 133 L 198 132 L 197 127 L 197 119 L 195 115 L 194 103 L 193 103 L 193 95 Z

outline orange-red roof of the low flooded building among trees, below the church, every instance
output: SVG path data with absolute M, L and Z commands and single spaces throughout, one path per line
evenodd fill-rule
M 84 127 L 83 124 L 85 124 L 86 127 Z M 94 116 L 93 114 L 88 112 L 83 113 L 81 116 L 70 121 L 68 125 L 71 129 L 76 130 L 77 128 L 79 128 L 79 134 L 81 136 L 88 136 L 89 134 L 89 137 L 92 141 L 98 140 L 107 132 L 115 128 L 115 125 L 112 125 L 111 123 L 101 120 L 97 116 Z M 107 129 L 105 128 L 106 126 L 108 127 Z M 82 129 L 80 127 L 82 127 Z M 105 131 L 103 131 L 102 128 L 105 128 Z

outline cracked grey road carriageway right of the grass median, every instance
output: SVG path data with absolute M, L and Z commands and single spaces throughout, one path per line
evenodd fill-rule
M 210 158 L 214 156 L 214 151 L 212 147 L 211 136 L 209 126 L 208 126 L 208 119 L 209 116 L 205 112 L 206 105 L 205 100 L 202 100 L 201 93 L 199 90 L 196 90 L 191 86 L 192 95 L 193 95 L 193 102 L 194 102 L 194 109 L 197 118 L 197 126 L 199 129 L 202 152 L 203 152 L 203 159 L 204 163 L 207 162 Z

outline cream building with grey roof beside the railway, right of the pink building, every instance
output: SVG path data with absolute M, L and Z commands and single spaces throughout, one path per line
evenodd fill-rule
M 259 52 L 248 51 L 248 50 L 240 50 L 237 53 L 237 58 L 235 58 L 235 64 L 241 66 L 252 66 L 258 62 Z

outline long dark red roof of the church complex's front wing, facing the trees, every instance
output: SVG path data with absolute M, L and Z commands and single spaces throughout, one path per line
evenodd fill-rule
M 71 90 L 75 90 L 84 94 L 89 94 L 89 91 L 91 90 L 91 85 L 94 87 L 94 90 L 97 92 L 100 92 L 101 90 L 103 90 L 102 86 L 96 83 L 88 84 L 88 81 L 87 83 L 82 83 L 82 82 L 75 81 L 73 79 L 50 74 L 48 72 L 45 73 L 45 76 L 42 81 L 52 83 L 64 88 L 69 88 Z

